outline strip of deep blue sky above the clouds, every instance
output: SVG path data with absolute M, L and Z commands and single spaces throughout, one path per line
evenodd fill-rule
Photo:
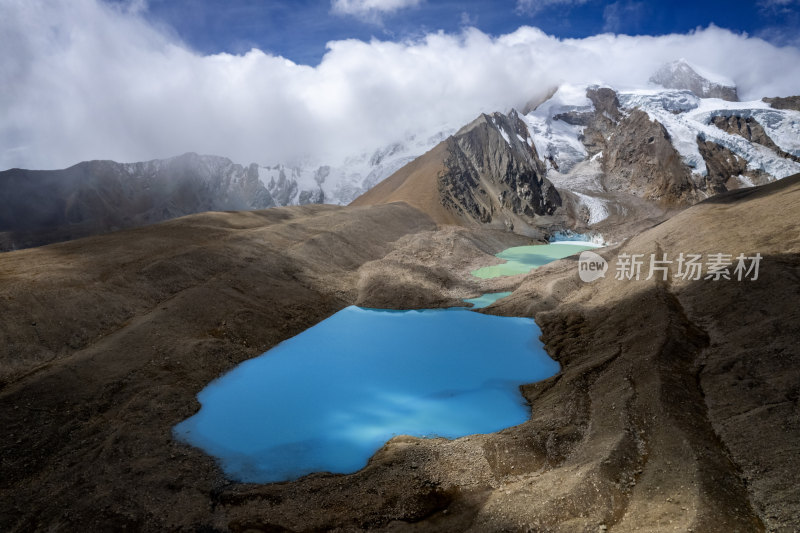
M 359 1 L 369 0 L 351 0 L 350 5 Z M 241 54 L 258 48 L 308 65 L 319 63 L 328 41 L 373 37 L 397 41 L 438 30 L 459 32 L 467 25 L 490 35 L 507 34 L 519 26 L 530 25 L 556 37 L 582 38 L 604 32 L 686 33 L 714 24 L 779 46 L 800 43 L 797 0 L 408 0 L 406 3 L 415 5 L 392 12 L 373 9 L 353 15 L 337 11 L 330 0 L 149 0 L 142 14 L 153 23 L 167 26 L 201 53 Z

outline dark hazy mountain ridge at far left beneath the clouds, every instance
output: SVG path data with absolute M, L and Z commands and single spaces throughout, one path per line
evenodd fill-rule
M 276 205 L 257 165 L 189 153 L 144 163 L 89 161 L 0 172 L 0 250 L 39 246 L 202 211 Z

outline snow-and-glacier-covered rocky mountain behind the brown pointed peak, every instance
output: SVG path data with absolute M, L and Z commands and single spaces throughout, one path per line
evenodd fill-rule
M 720 192 L 800 172 L 793 98 L 739 102 L 734 86 L 685 61 L 651 82 L 627 91 L 564 85 L 521 117 L 546 177 L 576 206 L 575 227 L 615 232 L 621 220 L 664 220 Z

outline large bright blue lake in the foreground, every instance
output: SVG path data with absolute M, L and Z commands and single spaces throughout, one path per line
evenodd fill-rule
M 533 320 L 348 307 L 198 394 L 173 429 L 243 482 L 354 472 L 394 435 L 455 438 L 528 419 L 519 386 L 556 374 Z

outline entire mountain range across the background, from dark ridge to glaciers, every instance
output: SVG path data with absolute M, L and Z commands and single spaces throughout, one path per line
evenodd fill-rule
M 0 247 L 201 211 L 346 205 L 367 191 L 357 204 L 405 201 L 440 222 L 522 232 L 533 231 L 534 219 L 556 230 L 661 216 L 800 172 L 796 102 L 735 95 L 736 87 L 681 60 L 641 89 L 561 85 L 526 115 L 483 114 L 451 136 L 457 127 L 408 135 L 339 165 L 242 165 L 186 154 L 9 170 L 0 173 Z

